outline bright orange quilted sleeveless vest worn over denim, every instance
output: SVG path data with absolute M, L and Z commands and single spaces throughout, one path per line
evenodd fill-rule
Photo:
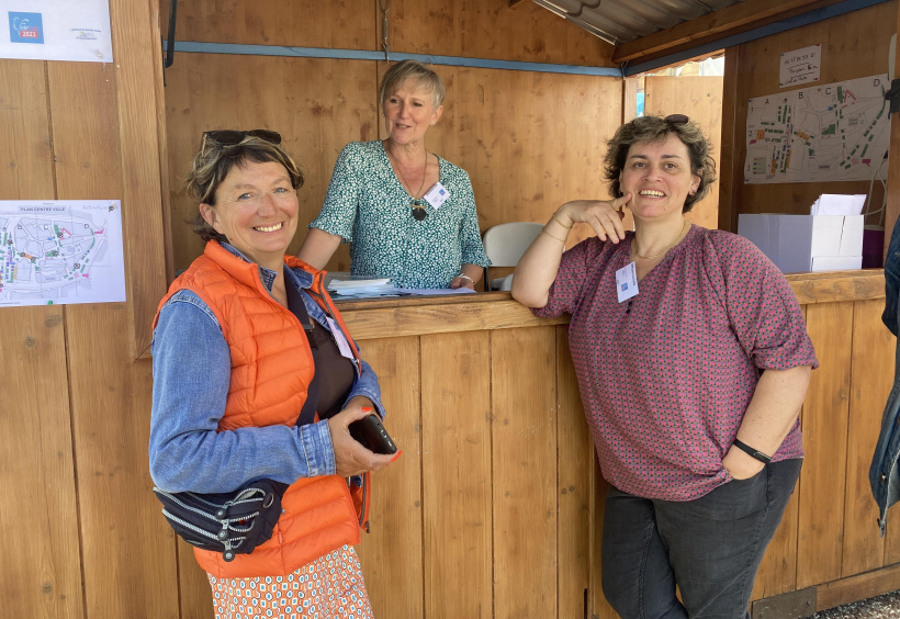
M 323 290 L 324 273 L 290 256 L 284 262 L 313 274 L 313 299 L 347 335 L 340 314 Z M 312 351 L 296 317 L 269 295 L 258 266 L 209 241 L 203 256 L 169 286 L 154 327 L 159 310 L 181 289 L 194 292 L 210 306 L 230 350 L 232 382 L 218 431 L 296 424 L 313 379 Z M 347 339 L 358 358 L 353 341 Z M 300 479 L 284 493 L 283 513 L 266 543 L 232 562 L 221 553 L 194 549 L 196 561 L 220 578 L 282 576 L 344 544 L 357 544 L 360 526 L 368 527 L 369 481 L 367 473 L 362 488 L 355 487 L 351 496 L 347 481 L 337 475 Z

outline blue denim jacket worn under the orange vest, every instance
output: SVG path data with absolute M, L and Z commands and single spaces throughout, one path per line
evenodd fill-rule
M 246 260 L 234 247 L 222 244 Z M 306 294 L 313 278 L 285 269 L 288 285 L 301 290 L 310 317 L 325 328 L 325 313 Z M 271 290 L 275 273 L 260 268 Z M 328 421 L 307 426 L 238 428 L 217 432 L 225 413 L 232 360 L 218 320 L 193 292 L 180 290 L 164 305 L 153 338 L 150 476 L 169 492 L 232 492 L 254 480 L 290 484 L 335 473 Z M 363 395 L 384 417 L 372 368 L 360 362 L 348 399 Z

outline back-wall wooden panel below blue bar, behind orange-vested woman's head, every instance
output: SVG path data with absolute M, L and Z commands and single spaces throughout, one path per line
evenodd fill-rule
M 289 252 L 296 252 L 306 224 L 318 215 L 344 145 L 376 137 L 372 61 L 180 54 L 166 79 L 176 269 L 187 269 L 203 252 L 203 241 L 184 223 L 198 209 L 184 192 L 184 178 L 204 131 L 281 133 L 305 177 L 297 192 L 300 228 Z M 331 267 L 349 270 L 346 246 Z

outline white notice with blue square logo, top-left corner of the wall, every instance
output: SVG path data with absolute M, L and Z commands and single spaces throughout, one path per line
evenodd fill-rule
M 0 0 L 0 58 L 112 63 L 109 0 Z

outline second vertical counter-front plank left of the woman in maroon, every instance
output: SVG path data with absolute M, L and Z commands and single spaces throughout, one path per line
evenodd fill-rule
M 560 492 L 555 330 L 494 331 L 491 352 L 494 616 L 553 617 Z

